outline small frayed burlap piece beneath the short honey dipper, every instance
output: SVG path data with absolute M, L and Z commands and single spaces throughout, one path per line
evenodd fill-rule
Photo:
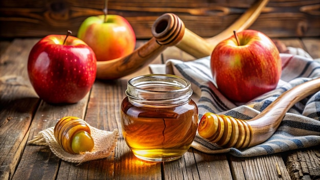
M 89 127 L 91 130 L 91 136 L 95 142 L 94 149 L 91 152 L 84 152 L 81 154 L 65 152 L 54 137 L 54 127 L 41 130 L 33 140 L 28 142 L 28 144 L 49 146 L 51 151 L 58 156 L 58 158 L 75 164 L 107 158 L 112 151 L 115 150 L 119 138 L 119 130 L 114 129 L 113 131 L 105 131 L 90 125 Z

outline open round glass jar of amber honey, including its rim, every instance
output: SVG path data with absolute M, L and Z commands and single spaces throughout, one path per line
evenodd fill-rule
M 139 76 L 128 81 L 126 95 L 120 111 L 122 134 L 133 154 L 154 162 L 181 158 L 198 126 L 190 82 L 175 75 Z

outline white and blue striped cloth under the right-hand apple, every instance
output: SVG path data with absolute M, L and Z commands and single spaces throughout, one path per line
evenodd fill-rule
M 165 65 L 150 64 L 152 73 L 175 74 L 192 83 L 199 97 L 199 119 L 212 112 L 238 119 L 251 119 L 288 89 L 320 77 L 320 59 L 312 59 L 299 48 L 288 47 L 290 54 L 280 54 L 283 64 L 281 80 L 276 89 L 245 104 L 227 100 L 214 85 L 210 70 L 210 57 L 184 62 L 170 59 Z M 299 54 L 299 55 L 297 55 Z M 273 154 L 293 149 L 320 145 L 320 92 L 296 103 L 286 113 L 277 131 L 262 144 L 246 149 L 222 148 L 196 135 L 192 147 L 205 153 L 231 153 L 248 157 Z

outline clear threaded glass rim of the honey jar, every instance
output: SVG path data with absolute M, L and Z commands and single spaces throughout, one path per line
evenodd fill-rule
M 128 81 L 126 90 L 128 98 L 147 104 L 179 104 L 189 101 L 192 93 L 190 81 L 169 74 L 134 77 Z

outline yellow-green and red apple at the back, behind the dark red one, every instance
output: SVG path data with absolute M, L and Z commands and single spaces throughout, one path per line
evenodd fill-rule
M 135 34 L 122 16 L 108 14 L 86 18 L 78 31 L 78 38 L 95 52 L 98 61 L 126 56 L 135 48 Z

